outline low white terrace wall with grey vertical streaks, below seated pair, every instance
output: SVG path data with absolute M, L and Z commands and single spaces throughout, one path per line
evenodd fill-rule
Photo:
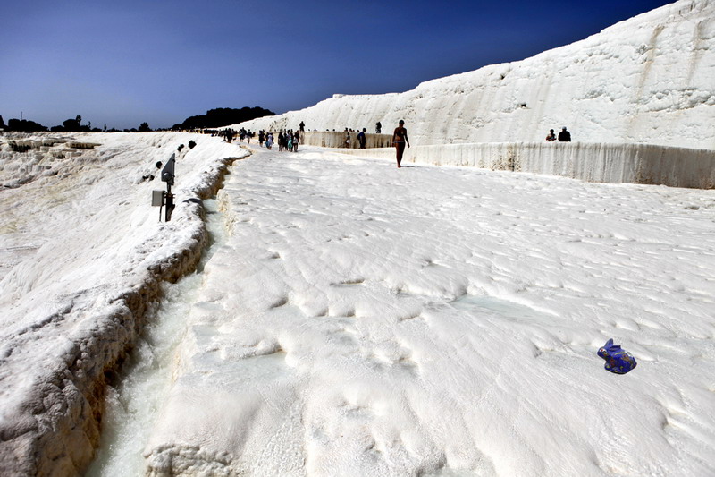
M 341 152 L 395 158 L 395 149 Z M 715 151 L 650 144 L 584 142 L 492 142 L 415 146 L 404 163 L 475 166 L 536 174 L 563 175 L 594 183 L 647 183 L 715 188 Z

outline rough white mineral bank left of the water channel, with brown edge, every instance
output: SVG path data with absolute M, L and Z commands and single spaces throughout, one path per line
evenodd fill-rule
M 51 138 L 69 140 L 50 146 Z M 159 222 L 152 190 L 176 166 L 177 208 Z M 34 144 L 15 153 L 10 141 Z M 46 146 L 43 142 L 46 141 Z M 94 149 L 70 148 L 95 143 Z M 156 281 L 200 253 L 198 197 L 246 151 L 189 133 L 40 134 L 0 138 L 0 465 L 4 473 L 70 474 L 97 446 L 96 400 L 158 299 Z M 197 250 L 198 249 L 198 250 Z M 147 284 L 155 284 L 147 286 Z M 133 300 L 130 303 L 130 300 Z

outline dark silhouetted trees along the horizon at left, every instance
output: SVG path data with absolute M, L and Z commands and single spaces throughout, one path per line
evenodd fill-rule
M 239 124 L 244 121 L 250 121 L 257 117 L 275 115 L 273 111 L 264 109 L 263 107 L 241 107 L 240 109 L 232 109 L 231 107 L 220 107 L 206 111 L 206 115 L 190 116 L 183 123 L 174 124 L 172 130 L 178 131 L 182 129 L 206 129 L 228 126 L 229 124 Z M 73 119 L 63 121 L 63 124 L 47 128 L 42 124 L 29 121 L 27 119 L 9 119 L 5 125 L 3 116 L 0 116 L 0 131 L 10 132 L 107 132 L 106 124 L 104 129 L 92 128 L 92 123 L 81 124 L 82 116 L 77 115 Z M 116 129 L 110 129 L 109 132 L 116 132 Z M 124 132 L 149 132 L 152 129 L 148 123 L 139 124 L 139 128 L 125 129 Z M 157 130 L 160 131 L 160 130 Z

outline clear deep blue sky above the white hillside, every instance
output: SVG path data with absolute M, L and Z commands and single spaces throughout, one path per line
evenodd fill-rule
M 6 1 L 0 115 L 118 129 L 283 113 L 568 45 L 670 1 Z

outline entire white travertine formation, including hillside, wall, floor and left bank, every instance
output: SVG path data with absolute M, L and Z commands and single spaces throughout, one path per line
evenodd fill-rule
M 404 118 L 400 169 L 389 149 L 0 136 L 0 468 L 715 474 L 713 47 L 715 4 L 681 0 L 522 62 L 244 124 Z M 577 161 L 536 144 L 561 125 Z M 646 163 L 692 188 L 638 183 Z M 637 368 L 604 370 L 610 338 Z

